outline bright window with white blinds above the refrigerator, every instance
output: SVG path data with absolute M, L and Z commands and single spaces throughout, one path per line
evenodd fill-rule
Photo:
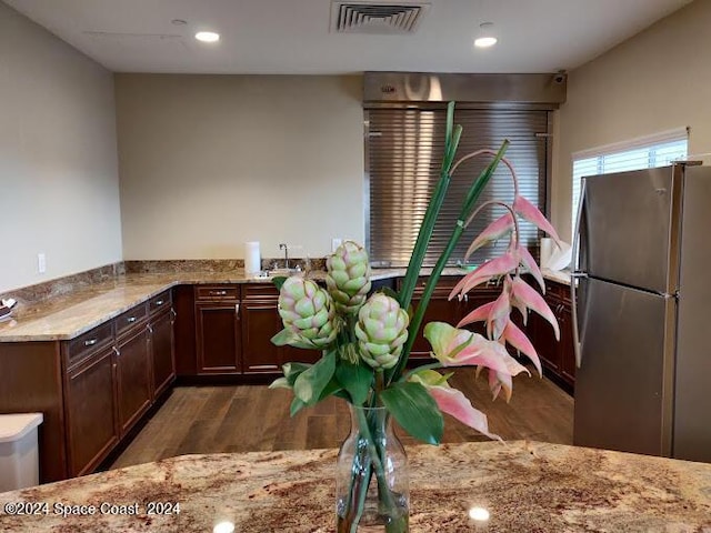
M 580 203 L 580 188 L 584 175 L 609 174 L 628 170 L 665 167 L 687 158 L 689 131 L 681 128 L 634 141 L 609 144 L 573 153 L 572 229 Z

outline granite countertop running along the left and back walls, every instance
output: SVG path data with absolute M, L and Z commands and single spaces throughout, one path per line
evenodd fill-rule
M 423 270 L 422 275 L 428 275 L 430 270 Z M 404 273 L 405 269 L 377 269 L 371 279 L 399 278 Z M 447 268 L 442 275 L 464 273 L 461 269 Z M 312 274 L 317 280 L 326 275 L 320 271 Z M 554 278 L 551 271 L 543 274 L 553 281 L 565 282 L 564 279 Z M 130 273 L 54 298 L 26 315 L 1 322 L 0 342 L 70 340 L 178 284 L 269 282 L 269 278 L 248 276 L 241 269 L 224 272 Z

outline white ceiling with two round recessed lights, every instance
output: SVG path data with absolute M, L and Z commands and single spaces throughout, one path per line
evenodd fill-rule
M 4 2 L 112 71 L 334 74 L 572 70 L 690 0 L 429 0 L 414 33 L 388 36 L 331 31 L 331 0 Z M 499 43 L 474 49 L 483 22 Z

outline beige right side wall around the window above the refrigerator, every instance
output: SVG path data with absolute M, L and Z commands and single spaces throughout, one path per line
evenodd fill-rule
M 711 1 L 697 0 L 570 73 L 553 170 L 561 237 L 570 234 L 573 152 L 687 125 L 689 153 L 711 152 L 710 28 Z

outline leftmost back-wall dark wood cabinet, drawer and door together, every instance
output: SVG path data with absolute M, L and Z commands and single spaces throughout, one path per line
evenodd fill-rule
M 239 285 L 196 286 L 198 374 L 242 372 Z

